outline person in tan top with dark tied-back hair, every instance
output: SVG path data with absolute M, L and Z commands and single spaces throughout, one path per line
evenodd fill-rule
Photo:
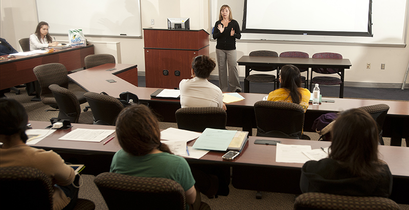
M 66 165 L 53 150 L 26 145 L 28 115 L 19 102 L 1 98 L 0 108 L 0 141 L 3 143 L 0 148 L 0 167 L 25 166 L 43 171 L 55 184 L 54 209 L 74 209 L 78 199 L 78 188 L 71 185 L 75 179 L 74 169 Z M 24 201 L 24 192 L 21 192 L 21 196 Z

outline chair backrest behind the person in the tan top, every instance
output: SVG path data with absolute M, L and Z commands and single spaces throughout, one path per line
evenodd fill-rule
M 44 172 L 22 166 L 0 168 L 0 197 L 10 209 L 53 209 L 54 189 Z

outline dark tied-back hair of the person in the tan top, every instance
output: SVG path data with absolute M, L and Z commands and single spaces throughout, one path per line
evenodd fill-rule
M 11 136 L 18 134 L 20 139 L 26 143 L 27 123 L 29 116 L 26 109 L 18 101 L 10 98 L 0 99 L 0 134 Z

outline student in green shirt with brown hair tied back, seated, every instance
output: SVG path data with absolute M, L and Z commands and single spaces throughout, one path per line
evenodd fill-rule
M 110 172 L 172 179 L 185 190 L 188 204 L 200 205 L 188 162 L 161 143 L 157 119 L 148 107 L 134 104 L 122 110 L 116 133 L 122 149 L 113 155 Z

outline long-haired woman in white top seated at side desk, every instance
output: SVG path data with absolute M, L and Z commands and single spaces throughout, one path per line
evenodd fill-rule
M 58 45 L 58 42 L 53 42 L 48 29 L 49 25 L 47 22 L 41 21 L 37 24 L 37 28 L 34 34 L 30 35 L 30 50 L 42 49 L 49 46 Z

